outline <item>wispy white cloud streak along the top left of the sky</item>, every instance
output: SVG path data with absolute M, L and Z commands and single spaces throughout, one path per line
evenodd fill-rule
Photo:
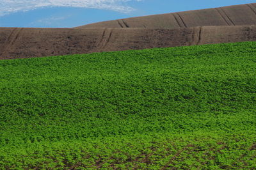
M 95 8 L 127 13 L 133 10 L 125 5 L 127 1 L 141 0 L 0 0 L 0 16 L 47 6 Z

